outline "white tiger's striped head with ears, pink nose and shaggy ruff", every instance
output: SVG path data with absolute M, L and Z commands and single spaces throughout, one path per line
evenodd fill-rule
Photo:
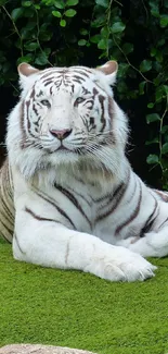
M 9 117 L 11 163 L 26 176 L 61 166 L 120 173 L 127 120 L 113 98 L 115 61 L 96 69 L 18 65 L 21 100 Z

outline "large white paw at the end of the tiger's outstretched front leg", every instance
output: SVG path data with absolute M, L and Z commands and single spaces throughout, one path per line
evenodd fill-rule
M 88 271 L 111 281 L 143 281 L 154 277 L 156 267 L 142 256 L 119 246 L 108 245 L 108 248 L 95 255 Z

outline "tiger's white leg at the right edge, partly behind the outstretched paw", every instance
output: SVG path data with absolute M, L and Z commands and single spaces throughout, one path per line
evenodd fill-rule
M 142 237 L 129 237 L 118 242 L 118 245 L 129 248 L 143 257 L 168 256 L 168 223 L 158 232 L 147 232 Z

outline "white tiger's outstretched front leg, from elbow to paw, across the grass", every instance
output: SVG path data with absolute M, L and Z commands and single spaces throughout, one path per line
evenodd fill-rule
M 13 254 L 44 267 L 78 269 L 111 281 L 144 280 L 154 276 L 141 256 L 109 245 L 87 233 L 70 230 L 54 220 L 16 209 Z

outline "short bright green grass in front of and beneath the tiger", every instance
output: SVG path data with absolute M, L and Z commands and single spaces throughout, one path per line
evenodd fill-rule
M 168 352 L 168 258 L 145 282 L 15 261 L 0 244 L 0 346 L 43 343 L 103 354 Z

